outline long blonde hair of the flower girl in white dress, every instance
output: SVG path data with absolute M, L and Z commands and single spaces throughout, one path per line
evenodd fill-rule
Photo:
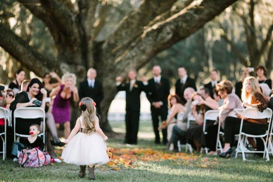
M 95 129 L 95 121 L 98 120 L 96 115 L 96 108 L 93 105 L 93 99 L 89 97 L 85 97 L 81 99 L 81 116 L 82 116 L 82 124 L 86 129 L 86 134 L 90 135 L 96 131 Z

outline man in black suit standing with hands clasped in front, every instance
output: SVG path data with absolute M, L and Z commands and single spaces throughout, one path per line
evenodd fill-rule
M 168 107 L 167 98 L 170 94 L 170 82 L 167 78 L 161 77 L 161 68 L 156 65 L 153 67 L 153 78 L 148 80 L 147 98 L 151 103 L 151 114 L 153 121 L 153 131 L 156 135 L 155 143 L 160 143 L 159 136 L 159 116 L 161 122 L 167 119 Z M 167 144 L 167 129 L 162 129 L 163 144 Z

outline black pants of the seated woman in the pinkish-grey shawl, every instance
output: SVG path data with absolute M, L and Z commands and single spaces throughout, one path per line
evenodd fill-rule
M 208 126 L 206 131 L 208 132 L 205 135 L 206 147 L 209 148 L 209 150 L 211 150 L 211 151 L 216 151 L 218 124 Z M 220 131 L 223 131 L 221 127 L 220 127 Z M 219 137 L 219 139 L 220 139 L 220 142 L 222 142 L 222 137 Z

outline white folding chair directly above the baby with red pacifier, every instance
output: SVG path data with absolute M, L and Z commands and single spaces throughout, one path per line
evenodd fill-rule
M 40 133 L 38 136 L 43 135 L 43 142 L 45 143 L 45 110 L 40 107 L 19 107 L 14 110 L 13 113 L 13 126 L 14 126 L 14 141 L 16 141 L 16 136 L 18 137 L 29 137 L 30 135 L 23 135 L 15 132 L 16 127 L 16 118 L 23 119 L 36 119 L 43 118 L 43 133 Z

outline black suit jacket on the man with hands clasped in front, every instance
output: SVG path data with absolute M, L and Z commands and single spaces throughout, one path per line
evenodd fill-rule
M 170 82 L 167 78 L 161 77 L 160 84 L 155 83 L 154 79 L 148 80 L 148 92 L 146 96 L 151 103 L 151 108 L 153 108 L 152 103 L 161 101 L 163 103 L 162 107 L 167 107 L 167 99 L 170 94 Z

